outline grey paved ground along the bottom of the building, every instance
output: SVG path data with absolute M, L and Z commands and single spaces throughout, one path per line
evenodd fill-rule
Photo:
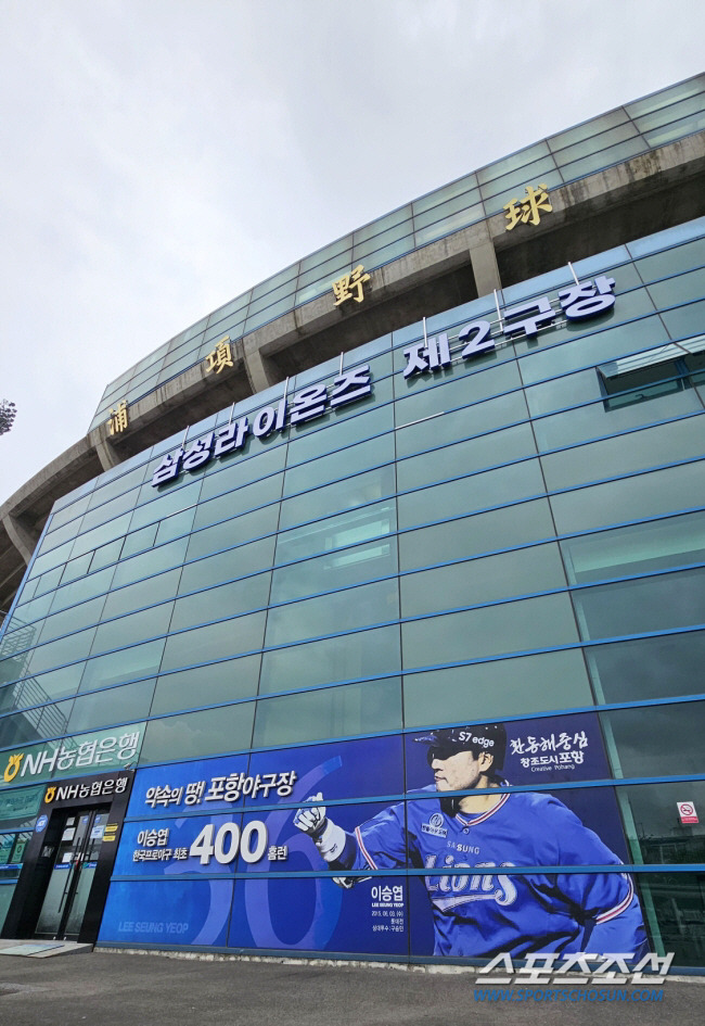
M 705 979 L 657 1003 L 478 1002 L 474 975 L 80 952 L 0 958 L 3 1026 L 702 1026 Z M 576 989 L 578 989 L 576 987 Z M 627 988 L 633 990 L 636 988 Z

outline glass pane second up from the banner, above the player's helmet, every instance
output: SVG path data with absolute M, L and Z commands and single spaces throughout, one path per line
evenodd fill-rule
M 547 595 L 401 625 L 405 668 L 463 662 L 577 642 L 567 595 Z

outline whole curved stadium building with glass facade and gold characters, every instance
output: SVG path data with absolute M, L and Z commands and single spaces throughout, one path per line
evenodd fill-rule
M 704 296 L 698 76 L 111 382 L 0 508 L 1 936 L 702 970 Z

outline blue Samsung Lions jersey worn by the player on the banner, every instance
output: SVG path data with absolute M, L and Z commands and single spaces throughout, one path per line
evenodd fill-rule
M 435 794 L 435 788 L 424 788 Z M 498 797 L 482 814 L 447 814 L 439 798 L 390 806 L 347 835 L 333 866 L 428 870 L 424 877 L 439 955 L 493 958 L 508 951 L 632 952 L 645 930 L 626 873 L 510 875 L 511 866 L 620 865 L 551 795 Z M 458 874 L 434 875 L 454 869 Z M 492 871 L 488 874 L 488 871 Z M 487 874 L 487 875 L 486 875 Z

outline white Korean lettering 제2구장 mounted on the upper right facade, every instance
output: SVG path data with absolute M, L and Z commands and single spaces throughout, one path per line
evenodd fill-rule
M 526 303 L 518 303 L 504 311 L 501 333 L 505 341 L 517 338 L 535 338 L 542 328 L 554 324 L 560 314 L 568 321 L 587 320 L 605 313 L 615 304 L 614 278 L 600 275 L 594 281 L 578 281 L 568 289 L 559 292 L 559 308 L 554 309 L 548 295 L 538 296 Z M 461 359 L 473 359 L 496 349 L 501 339 L 492 337 L 488 320 L 475 320 L 465 325 L 458 332 L 462 345 Z M 435 373 L 452 363 L 450 343 L 446 332 L 425 339 L 403 350 L 407 365 L 403 377 L 418 373 Z

